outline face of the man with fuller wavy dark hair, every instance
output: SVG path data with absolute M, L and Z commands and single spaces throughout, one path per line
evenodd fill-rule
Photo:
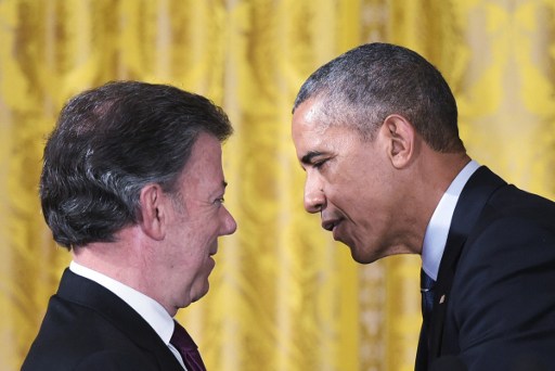
M 178 190 L 175 207 L 167 216 L 164 251 L 159 252 L 166 278 L 165 302 L 176 310 L 208 292 L 218 238 L 236 229 L 235 220 L 223 205 L 221 144 L 215 137 L 201 133 Z

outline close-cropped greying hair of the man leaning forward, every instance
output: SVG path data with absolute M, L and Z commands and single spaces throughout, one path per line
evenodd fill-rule
M 352 126 L 372 140 L 388 115 L 399 114 L 435 151 L 465 151 L 449 85 L 406 48 L 375 42 L 339 55 L 307 79 L 293 111 L 312 98 L 321 100 L 324 125 Z

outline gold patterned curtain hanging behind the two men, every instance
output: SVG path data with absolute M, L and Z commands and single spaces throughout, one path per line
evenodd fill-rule
M 112 79 L 223 106 L 227 203 L 209 294 L 180 311 L 209 370 L 412 370 L 416 256 L 354 264 L 302 209 L 291 106 L 359 43 L 415 49 L 451 84 L 480 163 L 555 199 L 552 0 L 0 0 L 0 369 L 17 370 L 69 254 L 37 197 L 63 103 Z

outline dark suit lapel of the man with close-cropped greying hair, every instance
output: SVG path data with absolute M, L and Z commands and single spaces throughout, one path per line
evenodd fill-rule
M 455 276 L 459 257 L 464 243 L 476 225 L 478 217 L 491 194 L 506 182 L 487 167 L 481 166 L 465 184 L 451 221 L 446 250 L 439 266 L 434 299 L 434 311 L 429 330 L 429 360 L 441 355 L 441 340 L 447 305 L 450 299 L 451 285 Z

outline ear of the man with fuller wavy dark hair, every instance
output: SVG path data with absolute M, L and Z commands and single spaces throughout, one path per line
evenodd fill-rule
M 160 241 L 166 235 L 164 192 L 159 184 L 143 187 L 140 195 L 141 220 L 139 221 L 143 232 L 150 238 Z

